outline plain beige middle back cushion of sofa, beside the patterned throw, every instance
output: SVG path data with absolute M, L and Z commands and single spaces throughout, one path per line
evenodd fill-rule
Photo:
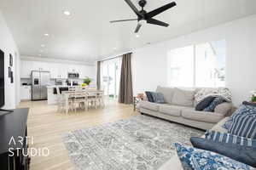
M 191 107 L 194 103 L 194 95 L 195 95 L 194 91 L 174 88 L 172 105 L 183 105 L 183 106 Z

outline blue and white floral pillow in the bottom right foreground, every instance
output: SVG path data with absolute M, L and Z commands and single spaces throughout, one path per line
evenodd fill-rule
M 217 153 L 200 150 L 183 144 L 175 144 L 177 156 L 184 170 L 253 170 L 239 161 L 235 161 Z

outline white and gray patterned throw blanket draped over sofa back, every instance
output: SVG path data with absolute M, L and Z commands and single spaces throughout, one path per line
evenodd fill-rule
M 222 96 L 227 102 L 231 102 L 232 95 L 229 88 L 201 88 L 195 94 L 196 105 L 208 96 Z

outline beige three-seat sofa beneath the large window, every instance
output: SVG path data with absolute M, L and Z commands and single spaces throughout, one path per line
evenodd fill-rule
M 158 87 L 156 92 L 164 95 L 165 104 L 156 104 L 143 100 L 138 109 L 142 114 L 160 117 L 190 127 L 211 129 L 216 123 L 230 116 L 231 103 L 218 105 L 214 112 L 195 111 L 195 93 L 200 88 L 184 90 L 180 88 Z

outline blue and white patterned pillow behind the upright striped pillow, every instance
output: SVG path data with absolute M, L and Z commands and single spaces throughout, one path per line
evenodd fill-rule
M 230 118 L 224 123 L 222 127 L 225 129 L 229 129 L 232 122 L 234 121 L 234 117 L 237 115 L 248 115 L 248 116 L 256 116 L 256 107 L 253 105 L 241 105 Z

